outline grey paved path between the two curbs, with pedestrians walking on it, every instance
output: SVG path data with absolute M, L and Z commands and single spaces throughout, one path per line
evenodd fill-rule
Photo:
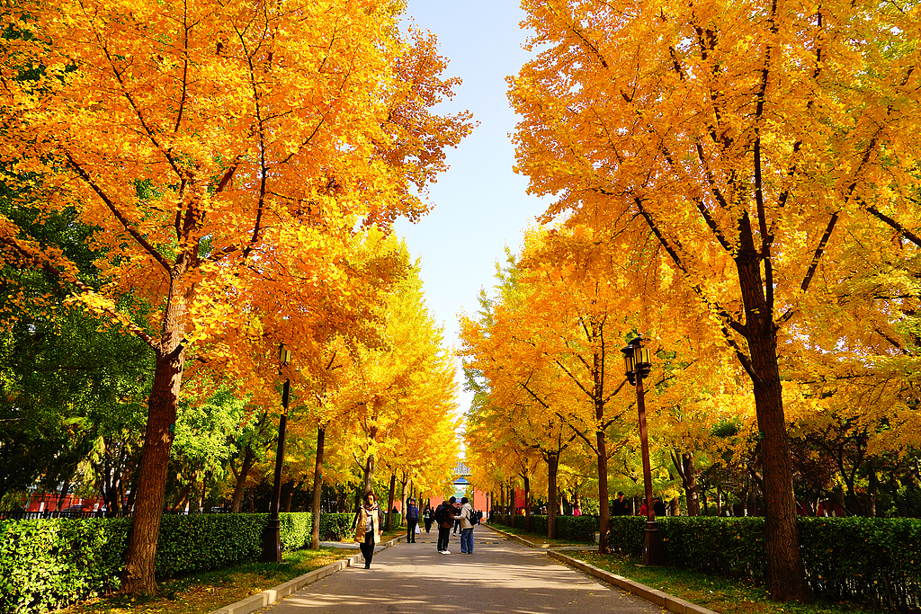
M 496 534 L 474 529 L 473 554 L 438 554 L 436 534 L 400 543 L 364 565 L 333 573 L 258 610 L 264 614 L 519 614 L 574 612 L 659 614 L 648 601 L 604 585 Z

